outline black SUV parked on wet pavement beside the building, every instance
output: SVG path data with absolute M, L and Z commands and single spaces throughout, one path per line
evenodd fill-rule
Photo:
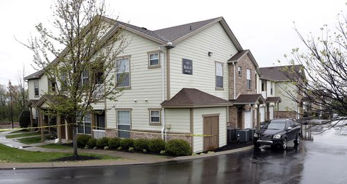
M 299 144 L 300 130 L 301 126 L 293 119 L 272 119 L 254 133 L 254 147 L 265 144 L 287 149 L 288 142 L 294 141 L 294 144 Z

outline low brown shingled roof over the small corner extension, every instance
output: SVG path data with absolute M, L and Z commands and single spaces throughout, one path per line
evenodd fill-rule
M 212 94 L 196 90 L 194 88 L 183 88 L 174 97 L 161 103 L 162 107 L 198 107 L 198 106 L 231 106 L 232 103 L 225 99 L 215 97 Z

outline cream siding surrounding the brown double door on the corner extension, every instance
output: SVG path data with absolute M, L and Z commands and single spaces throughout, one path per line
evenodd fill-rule
M 203 134 L 203 115 L 219 114 L 219 147 L 226 145 L 226 107 L 194 108 L 194 134 Z M 194 137 L 194 153 L 203 151 L 203 137 Z

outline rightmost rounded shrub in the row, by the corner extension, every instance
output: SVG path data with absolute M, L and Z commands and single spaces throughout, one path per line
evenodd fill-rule
M 173 156 L 190 156 L 192 154 L 192 148 L 185 140 L 169 140 L 166 150 Z

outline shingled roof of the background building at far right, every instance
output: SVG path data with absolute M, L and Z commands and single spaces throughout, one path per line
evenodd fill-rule
M 295 79 L 296 74 L 300 71 L 302 65 L 292 65 L 292 66 L 280 66 L 280 67 L 261 67 L 260 72 L 262 76 L 260 78 L 272 80 L 272 81 L 288 81 L 289 78 L 282 72 L 284 67 L 294 67 L 294 73 L 289 74 L 289 77 Z

